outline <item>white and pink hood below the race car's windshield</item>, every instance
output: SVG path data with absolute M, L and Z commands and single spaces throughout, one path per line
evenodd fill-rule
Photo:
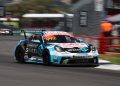
M 86 43 L 49 43 L 50 45 L 57 45 L 60 46 L 62 48 L 74 48 L 74 47 L 78 47 L 78 48 L 83 48 L 83 47 L 88 47 Z

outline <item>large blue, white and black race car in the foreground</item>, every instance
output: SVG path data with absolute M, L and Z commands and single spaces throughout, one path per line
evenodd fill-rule
M 99 53 L 92 44 L 64 31 L 40 31 L 28 38 L 25 35 L 16 46 L 15 58 L 20 63 L 99 65 Z

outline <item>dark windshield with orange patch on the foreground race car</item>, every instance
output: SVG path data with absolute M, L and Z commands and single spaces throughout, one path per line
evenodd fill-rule
M 74 37 L 66 36 L 66 35 L 53 35 L 44 38 L 46 43 L 78 43 Z

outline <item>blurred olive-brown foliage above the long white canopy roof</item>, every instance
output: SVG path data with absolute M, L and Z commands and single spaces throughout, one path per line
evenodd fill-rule
M 6 5 L 6 11 L 12 12 L 13 16 L 20 17 L 25 13 L 56 13 L 59 8 L 51 8 L 54 0 L 30 0 L 16 4 Z

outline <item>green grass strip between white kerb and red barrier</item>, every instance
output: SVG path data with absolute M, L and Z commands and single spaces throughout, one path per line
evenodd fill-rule
M 120 55 L 100 55 L 101 59 L 111 61 L 113 64 L 120 65 Z

